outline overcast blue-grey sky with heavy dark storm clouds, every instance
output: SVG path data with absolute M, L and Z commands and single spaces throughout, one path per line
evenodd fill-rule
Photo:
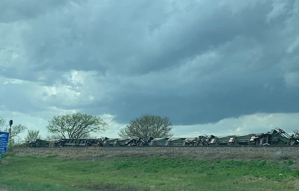
M 299 0 L 0 0 L 0 116 L 168 116 L 174 136 L 299 129 Z

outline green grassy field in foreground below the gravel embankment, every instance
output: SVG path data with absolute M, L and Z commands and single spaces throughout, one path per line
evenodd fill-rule
M 292 159 L 200 160 L 178 157 L 74 161 L 7 156 L 0 188 L 8 191 L 298 191 Z M 1 190 L 1 189 L 0 189 Z

